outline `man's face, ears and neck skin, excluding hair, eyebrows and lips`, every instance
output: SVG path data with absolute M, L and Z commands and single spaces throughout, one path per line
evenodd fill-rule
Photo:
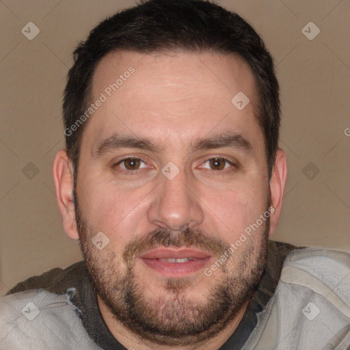
M 64 230 L 81 239 L 103 318 L 126 348 L 219 349 L 239 325 L 265 267 L 267 239 L 282 206 L 285 152 L 278 150 L 269 180 L 254 116 L 254 77 L 242 59 L 110 53 L 94 72 L 91 100 L 131 66 L 133 75 L 85 124 L 76 191 L 66 151 L 56 154 L 53 177 Z M 238 92 L 250 98 L 241 111 L 231 103 Z M 250 152 L 191 147 L 228 134 L 244 137 Z M 98 153 L 112 135 L 147 138 L 159 149 L 105 147 Z M 126 157 L 141 161 L 121 162 Z M 171 180 L 161 172 L 170 161 L 178 168 Z M 210 277 L 199 269 L 169 278 L 139 257 L 154 247 L 192 247 L 211 256 L 205 266 L 211 267 L 269 206 L 271 218 Z M 103 250 L 92 244 L 97 232 L 109 239 Z

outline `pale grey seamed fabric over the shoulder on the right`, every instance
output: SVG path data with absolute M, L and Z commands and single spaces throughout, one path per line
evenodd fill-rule
M 244 349 L 350 345 L 350 254 L 321 247 L 291 250 L 273 297 L 257 317 Z

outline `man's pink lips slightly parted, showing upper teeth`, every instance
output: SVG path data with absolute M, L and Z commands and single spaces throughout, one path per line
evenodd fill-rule
M 211 256 L 202 251 L 161 248 L 139 256 L 139 259 L 153 271 L 168 278 L 180 278 L 203 269 Z

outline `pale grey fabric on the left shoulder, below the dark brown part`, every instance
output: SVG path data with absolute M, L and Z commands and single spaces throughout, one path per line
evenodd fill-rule
M 74 293 L 31 289 L 0 297 L 0 349 L 100 349 L 71 302 Z

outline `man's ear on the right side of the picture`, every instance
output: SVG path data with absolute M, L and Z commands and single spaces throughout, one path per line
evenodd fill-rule
M 280 219 L 286 178 L 286 152 L 279 148 L 276 154 L 275 165 L 273 166 L 270 180 L 271 206 L 274 208 L 274 211 L 273 214 L 271 214 L 269 236 L 271 236 L 275 231 L 278 220 Z

